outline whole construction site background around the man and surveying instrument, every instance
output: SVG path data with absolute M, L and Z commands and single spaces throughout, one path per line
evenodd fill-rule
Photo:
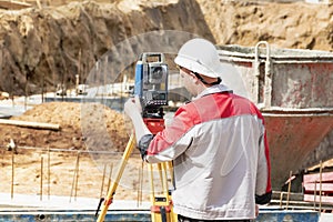
M 122 169 L 123 104 L 140 53 L 162 52 L 168 124 L 191 100 L 173 59 L 194 37 L 265 119 L 273 200 L 255 221 L 333 221 L 332 18 L 320 0 L 0 1 L 0 221 L 97 221 L 119 179 L 104 221 L 151 221 L 139 150 Z

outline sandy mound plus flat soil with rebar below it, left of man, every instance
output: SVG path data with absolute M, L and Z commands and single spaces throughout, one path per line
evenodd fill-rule
M 50 102 L 11 119 L 60 124 L 60 130 L 1 124 L 1 144 L 9 144 L 12 139 L 16 149 L 10 150 L 7 145 L 1 148 L 0 192 L 11 192 L 13 189 L 14 193 L 24 194 L 74 196 L 77 193 L 78 196 L 99 198 L 104 178 L 103 195 L 107 194 L 111 165 L 112 180 L 129 141 L 123 114 L 102 104 Z M 105 123 L 105 128 L 99 125 L 99 119 Z M 82 130 L 84 128 L 87 129 Z M 94 153 L 95 151 L 102 152 Z M 137 195 L 141 162 L 138 151 L 134 150 L 123 174 L 131 180 L 121 180 L 117 198 L 133 200 Z M 74 185 L 75 174 L 79 176 L 78 185 Z

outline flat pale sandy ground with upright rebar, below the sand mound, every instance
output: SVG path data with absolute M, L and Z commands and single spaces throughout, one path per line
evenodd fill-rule
M 99 199 L 107 196 L 109 179 L 115 178 L 121 153 L 114 154 L 105 164 L 94 161 L 90 154 L 79 154 L 79 167 L 77 168 L 78 152 L 57 152 L 51 150 L 21 150 L 13 154 L 1 150 L 1 193 L 59 196 L 87 196 Z M 109 155 L 110 157 L 110 155 Z M 50 159 L 49 159 L 50 158 Z M 114 159 L 118 158 L 118 159 Z M 141 160 L 133 158 L 129 161 L 123 178 L 117 189 L 115 200 L 137 200 Z M 12 178 L 13 165 L 13 178 Z M 109 176 L 110 170 L 112 172 Z M 41 176 L 42 175 L 42 176 Z M 129 180 L 132 178 L 133 180 Z M 142 195 L 143 201 L 148 195 Z M 52 198 L 51 198 L 52 200 Z

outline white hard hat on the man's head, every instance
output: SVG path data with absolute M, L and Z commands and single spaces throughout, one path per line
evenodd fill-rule
M 185 42 L 179 50 L 174 62 L 211 78 L 220 77 L 223 71 L 215 46 L 204 39 L 192 39 Z

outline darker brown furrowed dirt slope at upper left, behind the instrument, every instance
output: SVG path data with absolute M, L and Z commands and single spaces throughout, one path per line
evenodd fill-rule
M 147 2 L 84 1 L 0 11 L 0 91 L 41 93 L 42 88 L 54 90 L 58 83 L 73 85 L 75 74 L 84 82 L 103 53 L 148 31 L 182 30 L 212 39 L 195 1 Z M 140 49 L 140 42 L 133 47 Z M 125 61 L 119 60 L 120 69 L 125 69 Z

